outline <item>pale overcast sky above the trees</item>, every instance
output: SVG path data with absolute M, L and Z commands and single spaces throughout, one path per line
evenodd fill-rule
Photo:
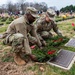
M 1 4 L 6 4 L 9 0 L 0 0 Z M 13 3 L 18 2 L 19 0 L 10 0 Z M 67 5 L 75 5 L 75 0 L 25 0 L 26 2 L 45 2 L 48 7 L 56 6 L 57 9 L 65 7 Z

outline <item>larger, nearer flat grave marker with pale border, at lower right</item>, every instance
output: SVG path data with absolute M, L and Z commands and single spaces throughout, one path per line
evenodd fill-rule
M 75 61 L 75 52 L 61 49 L 58 55 L 49 60 L 47 63 L 50 65 L 57 66 L 62 69 L 69 70 Z

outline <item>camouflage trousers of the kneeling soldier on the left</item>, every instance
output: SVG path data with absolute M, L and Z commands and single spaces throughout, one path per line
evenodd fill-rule
M 12 34 L 12 35 L 10 34 L 4 39 L 4 44 L 12 46 L 13 52 L 25 52 L 27 54 L 28 53 L 31 54 L 31 51 L 28 51 L 27 49 L 25 50 L 24 40 L 26 40 L 26 39 L 20 33 L 16 33 L 16 34 Z M 33 43 L 33 41 L 35 39 L 33 37 L 31 37 L 31 38 L 29 38 L 29 40 L 31 40 L 31 42 Z

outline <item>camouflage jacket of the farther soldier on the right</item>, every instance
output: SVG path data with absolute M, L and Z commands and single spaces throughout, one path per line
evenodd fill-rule
M 57 27 L 56 22 L 51 21 L 51 22 L 47 23 L 45 21 L 45 16 L 41 16 L 37 20 L 36 26 L 37 26 L 37 32 L 50 31 L 51 29 L 53 29 L 56 34 L 58 34 L 58 35 L 60 34 L 60 31 L 59 31 L 59 29 Z

